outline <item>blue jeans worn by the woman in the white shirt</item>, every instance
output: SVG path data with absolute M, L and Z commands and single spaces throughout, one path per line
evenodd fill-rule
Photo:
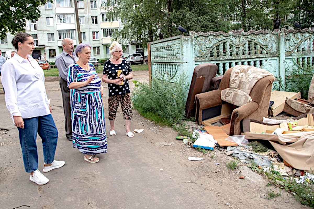
M 24 128 L 18 128 L 19 139 L 25 171 L 30 173 L 38 168 L 37 133 L 42 139 L 44 161 L 46 164 L 50 164 L 55 157 L 58 130 L 51 114 L 34 118 L 23 118 L 23 120 Z

